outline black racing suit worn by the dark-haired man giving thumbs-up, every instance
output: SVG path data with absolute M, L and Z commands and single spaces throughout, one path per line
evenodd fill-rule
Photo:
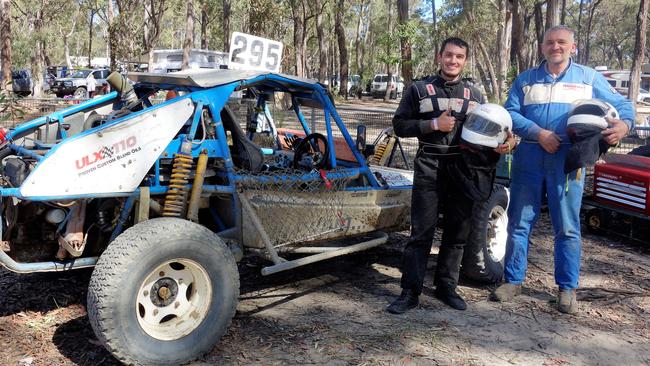
M 432 76 L 409 86 L 393 117 L 397 136 L 417 137 L 419 142 L 411 197 L 411 238 L 404 248 L 401 281 L 403 289 L 418 295 L 422 293 L 441 204 L 444 222 L 435 285 L 455 290 L 458 283 L 473 202 L 457 184 L 450 184 L 447 167 L 460 158 L 458 144 L 466 114 L 483 102 L 470 82 Z M 431 120 L 447 109 L 456 118 L 454 129 L 434 131 Z

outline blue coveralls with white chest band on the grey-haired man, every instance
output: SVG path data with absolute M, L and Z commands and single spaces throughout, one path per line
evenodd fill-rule
M 571 146 L 566 122 L 571 103 L 590 98 L 612 104 L 632 129 L 632 103 L 600 73 L 573 61 L 555 79 L 544 61 L 521 73 L 512 86 L 505 108 L 512 116 L 514 133 L 522 141 L 512 163 L 506 282 L 521 284 L 526 277 L 529 235 L 539 217 L 545 187 L 555 235 L 555 282 L 560 289 L 578 287 L 584 174 L 578 175 L 578 170 L 564 174 L 564 159 Z M 560 137 L 561 145 L 555 154 L 547 153 L 537 142 L 541 129 L 554 131 Z

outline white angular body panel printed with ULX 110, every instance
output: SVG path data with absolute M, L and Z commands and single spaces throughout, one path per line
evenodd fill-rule
M 24 197 L 133 192 L 192 117 L 189 99 L 61 143 L 32 171 Z

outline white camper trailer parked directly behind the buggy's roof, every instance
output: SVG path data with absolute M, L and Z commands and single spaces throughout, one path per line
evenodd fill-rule
M 180 71 L 183 65 L 183 50 L 154 50 L 153 65 L 150 72 L 168 73 Z M 224 69 L 228 65 L 228 54 L 225 52 L 191 49 L 190 69 Z

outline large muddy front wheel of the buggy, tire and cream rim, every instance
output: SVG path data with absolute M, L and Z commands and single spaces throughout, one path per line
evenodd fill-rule
M 88 319 L 121 362 L 177 365 L 212 349 L 238 297 L 235 259 L 216 234 L 157 218 L 126 230 L 101 255 L 88 288 Z

